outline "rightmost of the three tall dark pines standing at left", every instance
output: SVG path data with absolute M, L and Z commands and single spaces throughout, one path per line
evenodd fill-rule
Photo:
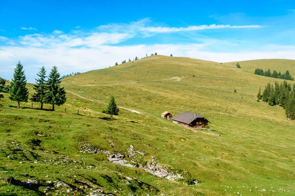
M 52 104 L 52 111 L 55 105 L 62 105 L 66 101 L 64 87 L 60 87 L 60 75 L 58 68 L 53 66 L 47 81 L 47 93 L 45 103 Z

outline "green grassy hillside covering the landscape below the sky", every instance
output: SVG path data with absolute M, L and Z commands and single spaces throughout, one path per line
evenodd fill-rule
M 256 101 L 259 87 L 283 80 L 254 75 L 254 70 L 295 75 L 295 60 L 239 64 L 241 69 L 236 62 L 150 56 L 89 71 L 63 79 L 67 102 L 55 112 L 30 109 L 31 103 L 16 109 L 5 94 L 0 108 L 0 195 L 67 195 L 66 190 L 73 194 L 76 188 L 78 195 L 97 189 L 116 196 L 294 195 L 295 122 L 287 120 L 282 108 Z M 29 88 L 32 93 L 31 84 Z M 112 95 L 124 108 L 113 120 L 101 113 Z M 221 137 L 164 120 L 164 111 L 199 112 L 211 122 L 213 130 L 205 132 Z M 97 153 L 85 153 L 90 147 Z M 109 162 L 106 151 L 125 155 L 131 165 L 158 164 L 184 179 L 170 181 L 143 168 Z M 15 182 L 4 183 L 10 176 Z M 28 179 L 36 179 L 38 186 L 16 183 Z M 198 183 L 188 185 L 192 179 Z

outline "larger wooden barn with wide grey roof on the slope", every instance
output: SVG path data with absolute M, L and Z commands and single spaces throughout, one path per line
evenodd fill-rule
M 174 124 L 184 127 L 204 128 L 210 123 L 204 116 L 199 113 L 181 112 L 172 118 Z

